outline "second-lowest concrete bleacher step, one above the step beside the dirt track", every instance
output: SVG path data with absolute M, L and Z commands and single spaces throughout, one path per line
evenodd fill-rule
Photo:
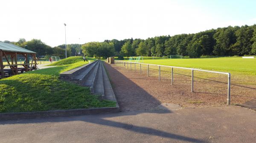
M 92 88 L 91 91 L 94 94 L 105 96 L 102 69 L 103 69 L 103 64 L 102 64 L 102 61 L 100 61 L 99 69 L 97 71 L 95 81 L 94 81 L 94 83 L 93 83 L 93 85 L 91 87 Z

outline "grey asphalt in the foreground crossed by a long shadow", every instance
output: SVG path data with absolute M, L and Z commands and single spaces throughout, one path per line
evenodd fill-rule
M 255 121 L 238 106 L 0 121 L 0 143 L 255 143 Z

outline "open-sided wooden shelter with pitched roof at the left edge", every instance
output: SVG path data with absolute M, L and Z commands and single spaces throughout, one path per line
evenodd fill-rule
M 25 60 L 23 63 L 18 64 L 17 55 L 24 56 Z M 32 57 L 31 63 L 29 63 L 29 55 Z M 3 60 L 6 60 L 7 64 L 4 64 Z M 34 66 L 32 67 L 32 65 Z M 22 67 L 18 67 L 22 66 Z M 4 67 L 10 67 L 4 68 Z M 35 70 L 36 69 L 36 53 L 21 48 L 19 46 L 0 42 L 0 77 L 3 79 L 6 76 L 17 75 L 18 72 L 23 73 L 23 71 Z

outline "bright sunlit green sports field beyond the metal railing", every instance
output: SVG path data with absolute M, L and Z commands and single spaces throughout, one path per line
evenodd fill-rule
M 140 62 L 142 62 L 142 60 L 140 60 Z M 205 59 L 144 59 L 143 63 L 200 68 L 204 70 L 230 72 L 232 74 L 256 75 L 256 59 L 242 59 L 237 57 Z

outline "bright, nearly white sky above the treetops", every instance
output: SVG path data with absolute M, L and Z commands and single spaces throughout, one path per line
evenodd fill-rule
M 256 0 L 3 0 L 0 41 L 52 47 L 256 24 Z

